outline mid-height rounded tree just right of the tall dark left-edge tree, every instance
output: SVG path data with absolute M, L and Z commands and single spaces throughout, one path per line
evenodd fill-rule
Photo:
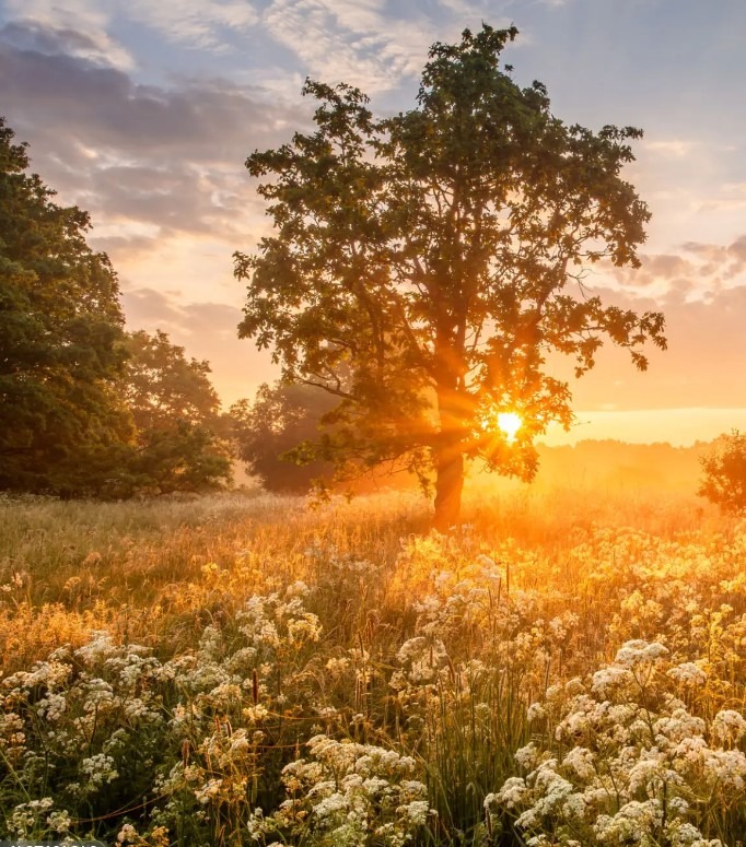
M 158 330 L 132 332 L 123 396 L 136 425 L 135 447 L 123 459 L 112 493 L 127 496 L 221 487 L 231 480 L 229 424 L 210 383 L 210 365 Z

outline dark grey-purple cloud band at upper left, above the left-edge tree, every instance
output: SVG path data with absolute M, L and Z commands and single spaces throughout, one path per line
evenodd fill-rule
M 0 44 L 0 86 L 10 116 L 61 132 L 96 154 L 126 151 L 124 158 L 225 161 L 236 142 L 245 152 L 252 141 L 275 137 L 289 117 L 258 92 L 224 80 L 141 85 L 114 68 L 7 42 Z

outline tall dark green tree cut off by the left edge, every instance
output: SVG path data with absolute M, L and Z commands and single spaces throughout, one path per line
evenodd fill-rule
M 117 278 L 0 118 L 0 489 L 89 493 L 131 435 Z

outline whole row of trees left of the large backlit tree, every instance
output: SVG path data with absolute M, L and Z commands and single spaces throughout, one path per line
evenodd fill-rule
M 313 392 L 265 386 L 221 412 L 207 362 L 160 330 L 126 331 L 89 215 L 28 169 L 0 118 L 0 491 L 201 492 L 229 484 L 236 458 L 270 489 L 305 490 L 318 467 L 278 456 L 312 435 Z

